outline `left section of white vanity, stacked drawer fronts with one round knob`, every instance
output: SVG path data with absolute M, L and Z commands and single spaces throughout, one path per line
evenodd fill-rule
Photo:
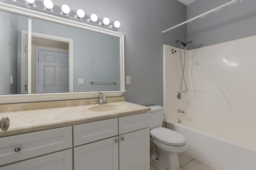
M 0 170 L 72 170 L 72 164 L 72 127 L 0 138 Z

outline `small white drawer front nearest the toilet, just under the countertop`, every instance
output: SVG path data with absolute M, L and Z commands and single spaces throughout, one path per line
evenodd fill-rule
M 149 127 L 149 113 L 120 117 L 118 119 L 119 135 Z

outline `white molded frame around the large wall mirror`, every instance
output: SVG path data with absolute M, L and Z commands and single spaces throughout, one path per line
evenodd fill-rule
M 0 10 L 6 12 L 12 12 L 32 18 L 42 19 L 46 21 L 52 21 L 63 25 L 86 29 L 106 35 L 111 35 L 120 38 L 120 90 L 116 91 L 102 91 L 105 97 L 121 96 L 125 90 L 124 84 L 124 34 L 89 25 L 86 23 L 80 23 L 78 21 L 68 20 L 66 18 L 60 18 L 58 16 L 44 14 L 41 12 L 13 6 L 0 2 Z M 70 92 L 70 93 L 45 93 L 45 94 L 10 94 L 0 95 L 0 104 L 8 103 L 24 103 L 24 102 L 40 102 L 40 101 L 53 101 L 53 100 L 72 100 L 72 99 L 84 99 L 84 98 L 97 98 L 98 92 Z

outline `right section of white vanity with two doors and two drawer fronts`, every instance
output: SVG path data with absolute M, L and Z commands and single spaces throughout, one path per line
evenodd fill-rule
M 74 126 L 74 170 L 149 170 L 148 121 L 142 113 Z

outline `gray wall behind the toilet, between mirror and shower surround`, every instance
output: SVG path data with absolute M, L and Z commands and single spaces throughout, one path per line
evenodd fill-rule
M 186 25 L 162 34 L 186 20 L 186 6 L 177 0 L 53 0 L 67 4 L 72 10 L 83 9 L 118 20 L 118 32 L 125 34 L 126 101 L 163 106 L 163 44 L 180 46 L 176 39 L 186 41 Z

